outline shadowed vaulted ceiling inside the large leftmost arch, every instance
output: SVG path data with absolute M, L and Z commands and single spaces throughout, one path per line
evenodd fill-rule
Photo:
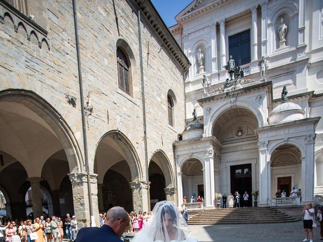
M 19 103 L 2 103 L 0 150 L 21 162 L 28 177 L 40 177 L 45 161 L 62 148 L 57 136 L 37 114 Z

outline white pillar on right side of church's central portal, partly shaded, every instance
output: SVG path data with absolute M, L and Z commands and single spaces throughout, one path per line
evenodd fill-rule
M 258 143 L 259 146 L 259 196 L 258 196 L 258 206 L 266 206 L 268 193 L 271 191 L 270 184 L 268 184 L 268 166 L 267 166 L 267 141 L 261 141 Z

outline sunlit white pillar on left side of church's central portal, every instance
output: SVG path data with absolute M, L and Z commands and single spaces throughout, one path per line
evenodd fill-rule
M 204 153 L 204 206 L 205 209 L 214 208 L 214 162 L 213 148 L 209 147 Z

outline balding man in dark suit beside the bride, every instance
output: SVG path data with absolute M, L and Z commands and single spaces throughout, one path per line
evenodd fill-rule
M 102 227 L 81 228 L 75 242 L 123 242 L 120 238 L 129 222 L 130 217 L 124 208 L 113 207 L 106 212 L 105 222 Z

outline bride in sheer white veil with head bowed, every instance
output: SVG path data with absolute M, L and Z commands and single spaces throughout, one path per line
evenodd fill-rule
M 186 237 L 190 232 L 182 214 L 171 201 L 156 203 L 149 223 L 133 238 L 133 242 L 197 242 Z

